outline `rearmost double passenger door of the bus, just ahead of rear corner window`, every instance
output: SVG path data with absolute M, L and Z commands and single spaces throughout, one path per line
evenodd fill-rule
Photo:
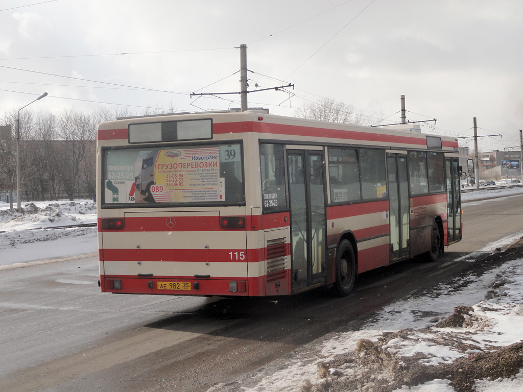
M 323 153 L 287 150 L 291 219 L 292 291 L 325 281 Z

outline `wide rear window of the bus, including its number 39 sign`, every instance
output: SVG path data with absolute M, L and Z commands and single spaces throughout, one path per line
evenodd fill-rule
M 239 143 L 103 151 L 104 204 L 242 204 Z

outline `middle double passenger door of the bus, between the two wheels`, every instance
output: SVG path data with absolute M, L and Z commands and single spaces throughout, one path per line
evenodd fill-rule
M 390 261 L 410 255 L 410 222 L 407 182 L 407 156 L 387 153 L 387 193 L 389 195 Z

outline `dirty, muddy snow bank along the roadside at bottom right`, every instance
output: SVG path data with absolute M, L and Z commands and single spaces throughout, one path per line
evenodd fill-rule
M 522 262 L 391 304 L 357 331 L 331 333 L 209 392 L 519 392 Z

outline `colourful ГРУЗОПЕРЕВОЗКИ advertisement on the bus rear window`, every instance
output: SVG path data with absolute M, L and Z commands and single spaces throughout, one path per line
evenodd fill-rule
M 222 147 L 108 151 L 105 202 L 224 201 L 225 180 L 220 177 Z M 230 159 L 231 149 L 222 154 L 229 154 Z

